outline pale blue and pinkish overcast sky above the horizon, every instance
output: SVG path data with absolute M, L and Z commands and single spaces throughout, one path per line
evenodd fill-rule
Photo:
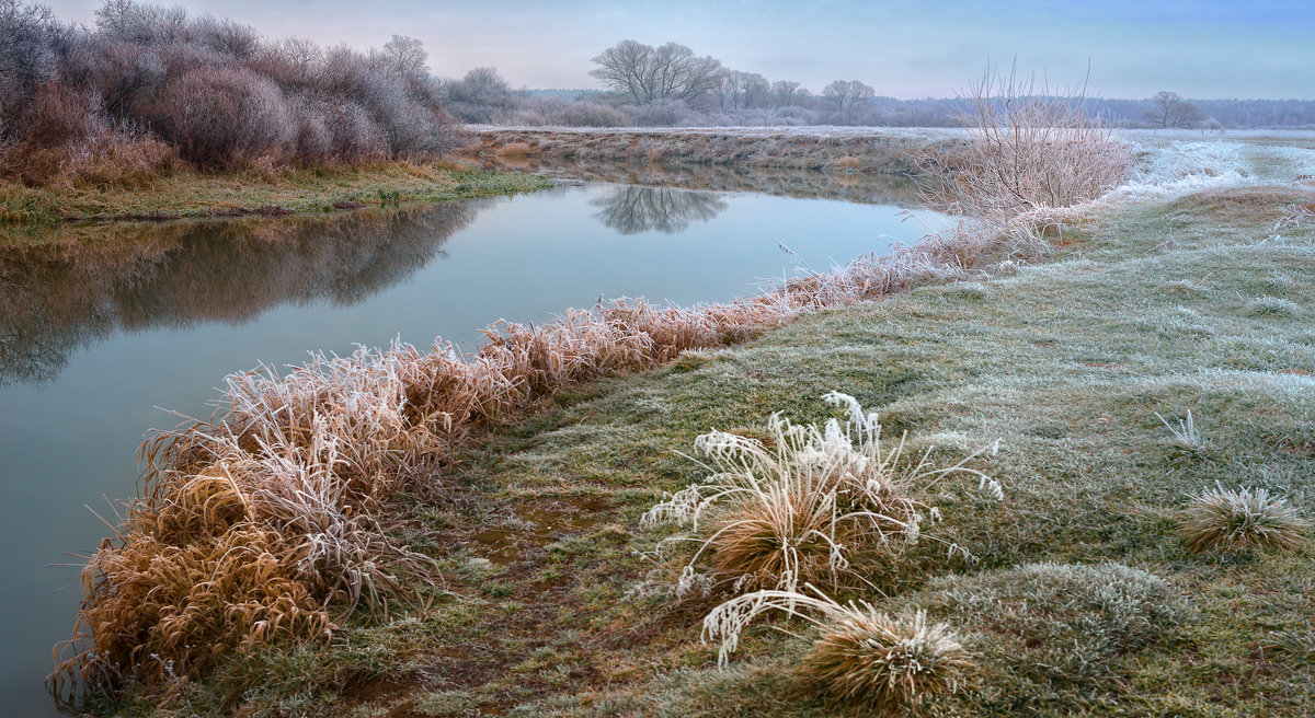
M 100 0 L 46 0 L 91 21 Z M 166 3 L 175 4 L 175 3 Z M 514 88 L 598 87 L 589 58 L 667 41 L 813 92 L 835 79 L 877 95 L 948 97 L 988 58 L 1090 95 L 1315 98 L 1315 0 L 183 0 L 272 37 L 379 46 L 419 38 L 439 75 L 496 67 Z

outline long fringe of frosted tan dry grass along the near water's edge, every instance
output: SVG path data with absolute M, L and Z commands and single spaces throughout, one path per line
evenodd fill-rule
M 121 536 L 84 570 L 87 596 L 66 647 L 70 658 L 51 684 L 68 697 L 79 685 L 158 684 L 166 673 L 151 667 L 156 663 L 188 673 L 212 665 L 196 659 L 195 646 L 220 656 L 321 639 L 333 618 L 358 604 L 387 610 L 412 583 L 402 576 L 426 576 L 423 558 L 389 537 L 388 504 L 400 492 L 435 490 L 434 470 L 472 434 L 576 382 L 740 341 L 802 312 L 965 277 L 989 248 L 961 227 L 732 303 L 614 302 L 571 310 L 546 326 L 501 322 L 467 356 L 441 340 L 431 352 L 398 343 L 347 357 L 316 354 L 287 375 L 272 368 L 234 374 L 213 417 L 147 442 L 146 494 Z M 893 516 L 881 517 L 853 496 L 838 496 L 836 516 L 846 516 L 839 525 L 865 522 L 865 534 L 911 530 L 911 515 L 898 501 L 888 507 Z M 245 583 L 225 578 L 241 566 L 221 560 L 226 554 L 214 547 L 242 541 L 271 557 L 263 560 L 281 580 L 270 583 L 268 596 L 251 599 Z M 213 576 L 204 596 L 175 588 L 176 576 L 201 575 Z M 206 606 L 249 606 L 260 618 L 199 622 L 183 631 L 168 618 L 175 609 L 212 616 Z M 318 618 L 288 618 L 312 614 Z

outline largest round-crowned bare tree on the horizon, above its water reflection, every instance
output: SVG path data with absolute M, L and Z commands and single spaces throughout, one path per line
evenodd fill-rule
M 636 105 L 659 100 L 693 102 L 717 89 L 723 72 L 719 60 L 696 56 L 693 50 L 675 42 L 652 47 L 626 39 L 604 50 L 593 62 L 598 67 L 589 75 L 629 95 Z

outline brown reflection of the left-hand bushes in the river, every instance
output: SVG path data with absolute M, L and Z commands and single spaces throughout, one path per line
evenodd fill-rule
M 0 245 L 0 386 L 49 381 L 118 329 L 360 302 L 429 263 L 483 206 L 134 223 L 96 227 L 95 240 Z

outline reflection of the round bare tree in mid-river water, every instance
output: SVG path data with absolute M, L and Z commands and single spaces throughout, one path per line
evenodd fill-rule
M 726 210 L 726 201 L 717 194 L 665 186 L 618 186 L 592 202 L 602 207 L 594 219 L 623 235 L 652 230 L 671 235 Z

